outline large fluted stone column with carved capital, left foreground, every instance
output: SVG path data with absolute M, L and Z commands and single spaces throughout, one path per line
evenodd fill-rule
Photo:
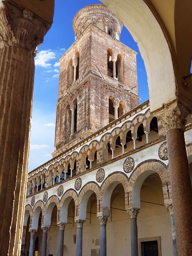
M 34 56 L 51 27 L 25 8 L 14 1 L 0 0 L 0 166 L 1 177 L 5 177 L 0 182 L 0 201 L 4 205 L 0 211 L 0 255 L 20 255 Z

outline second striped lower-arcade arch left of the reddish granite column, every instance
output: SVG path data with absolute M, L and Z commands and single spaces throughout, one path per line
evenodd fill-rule
M 102 214 L 105 216 L 110 215 L 110 201 L 111 195 L 113 190 L 116 188 L 118 184 L 122 184 L 125 192 L 125 209 L 128 207 L 128 200 L 127 200 L 127 192 L 128 192 L 128 178 L 124 173 L 116 172 L 112 173 L 107 177 L 107 179 L 103 182 L 100 191 L 102 195 Z

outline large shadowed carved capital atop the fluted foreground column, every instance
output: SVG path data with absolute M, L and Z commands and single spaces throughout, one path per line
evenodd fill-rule
M 3 1 L 0 9 L 0 49 L 18 45 L 34 54 L 50 27 L 51 24 L 28 9 L 9 0 Z

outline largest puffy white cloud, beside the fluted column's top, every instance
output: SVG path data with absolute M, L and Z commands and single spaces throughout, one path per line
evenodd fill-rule
M 42 50 L 40 52 L 37 52 L 36 58 L 35 58 L 35 65 L 41 66 L 44 68 L 50 67 L 52 64 L 50 63 L 50 60 L 55 59 L 56 54 L 49 50 Z

